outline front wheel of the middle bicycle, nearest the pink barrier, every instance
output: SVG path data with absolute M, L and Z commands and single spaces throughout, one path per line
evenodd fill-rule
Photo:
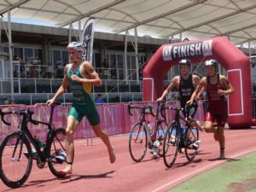
M 129 137 L 129 152 L 132 160 L 135 162 L 143 160 L 147 152 L 147 143 L 148 134 L 146 127 L 141 122 L 138 122 L 131 128 Z

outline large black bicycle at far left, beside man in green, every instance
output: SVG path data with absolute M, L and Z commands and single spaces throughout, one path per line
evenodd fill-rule
M 5 125 L 10 125 L 4 119 L 7 114 L 16 114 L 20 119 L 18 131 L 10 133 L 3 139 L 0 146 L 0 177 L 10 188 L 18 188 L 29 177 L 32 171 L 32 160 L 37 161 L 39 168 L 43 168 L 47 161 L 49 170 L 55 177 L 63 177 L 59 172 L 64 168 L 66 153 L 64 139 L 66 131 L 64 128 L 55 129 L 52 117 L 55 106 L 60 103 L 55 102 L 50 108 L 49 122 L 42 122 L 32 119 L 32 111 L 29 108 L 20 108 L 17 111 L 3 112 L 0 115 Z M 27 124 L 43 124 L 48 126 L 47 138 L 44 148 L 32 137 Z M 32 152 L 32 146 L 34 151 Z

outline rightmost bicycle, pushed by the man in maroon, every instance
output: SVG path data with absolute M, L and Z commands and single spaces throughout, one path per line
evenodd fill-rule
M 180 111 L 187 111 L 185 108 L 168 107 L 165 109 L 175 111 L 175 119 L 166 130 L 163 144 L 163 159 L 166 167 L 170 168 L 177 159 L 177 153 L 182 153 L 183 148 L 187 160 L 191 161 L 195 159 L 195 154 L 197 153 L 198 148 L 198 145 L 196 146 L 196 144 L 199 142 L 199 131 L 194 119 L 187 120 L 187 113 L 185 117 L 186 119 L 180 117 Z M 180 119 L 183 119 L 185 122 L 185 127 L 183 128 L 180 124 Z

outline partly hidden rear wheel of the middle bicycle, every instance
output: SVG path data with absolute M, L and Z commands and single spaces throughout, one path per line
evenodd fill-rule
M 165 120 L 161 120 L 160 123 L 157 125 L 156 128 L 156 139 L 160 142 L 159 146 L 159 155 L 160 157 L 163 156 L 163 146 L 164 146 L 164 138 L 165 138 L 165 133 L 167 130 L 167 123 Z

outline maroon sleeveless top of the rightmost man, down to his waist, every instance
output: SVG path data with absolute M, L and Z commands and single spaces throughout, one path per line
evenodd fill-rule
M 218 90 L 224 90 L 219 75 L 216 84 L 211 84 L 210 78 L 207 76 L 208 110 L 224 110 L 226 108 L 225 96 L 219 96 Z

